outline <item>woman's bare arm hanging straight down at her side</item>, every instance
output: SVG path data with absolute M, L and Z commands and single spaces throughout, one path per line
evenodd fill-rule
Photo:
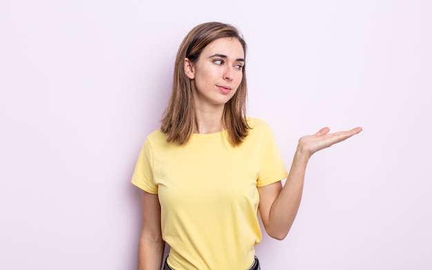
M 165 242 L 161 233 L 161 206 L 157 194 L 142 193 L 142 226 L 138 248 L 138 270 L 160 270 Z

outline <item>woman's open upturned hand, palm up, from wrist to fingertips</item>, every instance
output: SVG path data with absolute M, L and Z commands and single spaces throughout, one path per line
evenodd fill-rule
M 297 150 L 310 157 L 321 149 L 345 141 L 347 138 L 360 133 L 362 130 L 362 127 L 355 127 L 344 132 L 328 134 L 330 129 L 328 127 L 323 127 L 319 132 L 313 135 L 303 136 L 300 138 Z

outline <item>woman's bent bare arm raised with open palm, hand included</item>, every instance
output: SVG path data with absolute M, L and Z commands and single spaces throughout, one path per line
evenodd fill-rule
M 362 128 L 356 127 L 334 134 L 328 134 L 329 130 L 324 127 L 314 135 L 300 138 L 284 187 L 279 181 L 258 188 L 259 213 L 269 236 L 282 240 L 291 229 L 302 200 L 304 174 L 309 158 L 321 149 L 358 134 Z

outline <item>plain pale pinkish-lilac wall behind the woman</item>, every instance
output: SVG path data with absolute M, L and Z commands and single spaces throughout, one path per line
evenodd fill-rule
M 289 167 L 297 139 L 364 132 L 313 156 L 263 269 L 432 269 L 431 1 L 0 3 L 0 269 L 135 269 L 141 144 L 198 23 L 249 45 L 248 114 Z M 211 243 L 210 243 L 211 245 Z

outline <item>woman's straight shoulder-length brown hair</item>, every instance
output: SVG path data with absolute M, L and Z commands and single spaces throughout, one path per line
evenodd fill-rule
M 184 73 L 184 59 L 198 60 L 202 50 L 216 39 L 235 37 L 243 47 L 246 60 L 246 42 L 233 25 L 219 22 L 202 23 L 186 35 L 177 52 L 174 65 L 173 88 L 161 121 L 161 131 L 168 134 L 168 143 L 186 143 L 195 125 L 195 110 L 190 79 Z M 239 145 L 248 135 L 246 122 L 246 70 L 234 96 L 225 104 L 223 121 L 231 145 Z

